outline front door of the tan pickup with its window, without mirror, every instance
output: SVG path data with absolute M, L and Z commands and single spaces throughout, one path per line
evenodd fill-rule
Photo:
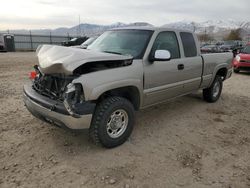
M 183 59 L 175 32 L 163 31 L 158 34 L 151 49 L 168 50 L 169 61 L 144 61 L 144 105 L 151 105 L 176 97 L 183 92 Z

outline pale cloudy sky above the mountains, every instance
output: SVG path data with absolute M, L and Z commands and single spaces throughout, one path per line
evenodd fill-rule
M 249 0 L 0 0 L 0 30 L 233 19 L 250 21 Z

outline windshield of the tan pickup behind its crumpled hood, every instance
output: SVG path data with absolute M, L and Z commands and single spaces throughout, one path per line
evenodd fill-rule
M 98 37 L 87 49 L 131 55 L 141 59 L 153 31 L 148 30 L 115 30 L 107 31 Z

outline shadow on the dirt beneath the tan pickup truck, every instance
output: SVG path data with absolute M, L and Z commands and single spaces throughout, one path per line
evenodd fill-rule
M 152 124 L 159 124 L 164 119 L 179 116 L 180 114 L 185 115 L 193 106 L 200 106 L 203 103 L 205 102 L 202 100 L 201 92 L 196 92 L 137 112 L 132 138 L 129 139 L 130 144 L 134 145 L 134 138 L 136 139 L 137 136 L 141 137 L 140 134 L 142 133 L 143 135 L 145 128 L 152 129 L 153 131 L 155 125 L 152 126 Z M 54 141 L 53 144 L 58 145 L 57 148 L 61 148 L 64 154 L 67 154 L 67 151 L 71 150 L 73 153 L 78 154 L 89 150 L 92 152 L 104 150 L 100 145 L 96 146 L 90 141 L 88 129 L 74 131 L 54 126 L 52 130 L 53 136 L 51 138 Z M 68 154 L 71 155 L 71 153 Z

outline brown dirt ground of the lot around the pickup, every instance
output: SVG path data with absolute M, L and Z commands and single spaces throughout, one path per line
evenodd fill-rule
M 26 110 L 36 63 L 0 53 L 0 187 L 250 187 L 250 74 L 234 74 L 215 104 L 197 92 L 138 112 L 129 140 L 105 149 Z

